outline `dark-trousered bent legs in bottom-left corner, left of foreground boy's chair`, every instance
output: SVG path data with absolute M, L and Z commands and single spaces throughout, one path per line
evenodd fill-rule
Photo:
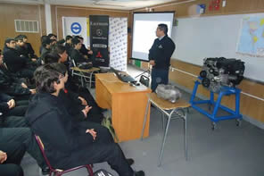
M 25 150 L 36 159 L 38 166 L 42 168 L 43 174 L 49 173 L 49 168 L 45 163 L 37 141 L 31 130 L 27 127 L 24 117 L 9 116 L 4 122 L 0 121 L 0 150 L 7 154 L 7 158 L 4 157 L 2 160 L 4 163 L 0 164 L 1 175 L 12 173 L 12 168 L 16 170 L 20 168 L 14 165 L 5 165 L 5 163 L 19 165 L 25 154 Z M 5 172 L 6 174 L 4 174 Z

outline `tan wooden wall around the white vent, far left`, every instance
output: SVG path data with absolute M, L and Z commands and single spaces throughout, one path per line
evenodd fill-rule
M 38 21 L 38 33 L 15 32 L 14 20 Z M 5 4 L 0 3 L 0 48 L 4 47 L 7 37 L 14 38 L 20 34 L 28 36 L 29 42 L 34 47 L 36 54 L 40 46 L 40 38 L 45 34 L 45 10 L 44 5 L 29 4 Z

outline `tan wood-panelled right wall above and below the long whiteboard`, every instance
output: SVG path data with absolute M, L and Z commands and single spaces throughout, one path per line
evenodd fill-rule
M 243 14 L 243 13 L 263 13 L 264 1 L 262 0 L 226 0 L 226 7 L 219 8 L 219 11 L 208 11 L 208 6 L 211 0 L 197 0 L 195 2 L 183 3 L 168 3 L 152 6 L 154 12 L 175 11 L 176 18 L 188 18 L 193 13 L 194 4 L 206 4 L 207 8 L 202 16 L 212 15 L 228 15 L 228 14 Z M 221 1 L 222 2 L 222 1 Z M 144 12 L 144 9 L 137 9 L 133 12 Z M 197 34 L 199 35 L 199 34 Z M 264 58 L 263 58 L 264 59 Z M 181 61 L 180 61 L 181 60 Z M 181 58 L 172 58 L 171 65 L 179 71 L 170 71 L 169 80 L 176 82 L 188 90 L 194 88 L 195 76 L 198 76 L 201 71 L 201 66 L 192 63 L 186 63 Z M 243 91 L 241 94 L 240 109 L 241 113 L 251 117 L 256 122 L 264 122 L 264 80 L 257 82 L 254 80 L 243 80 L 238 86 Z M 198 93 L 202 96 L 209 97 L 209 91 L 206 88 L 200 87 Z M 231 108 L 235 108 L 234 96 L 227 96 L 222 100 L 222 104 Z

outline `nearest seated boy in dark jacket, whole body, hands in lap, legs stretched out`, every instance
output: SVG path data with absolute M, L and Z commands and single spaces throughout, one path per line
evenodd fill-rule
M 120 176 L 144 176 L 129 166 L 119 145 L 105 140 L 94 129 L 76 126 L 58 98 L 64 88 L 63 75 L 50 65 L 35 72 L 37 95 L 31 99 L 26 118 L 43 141 L 55 168 L 70 169 L 88 163 L 108 162 Z

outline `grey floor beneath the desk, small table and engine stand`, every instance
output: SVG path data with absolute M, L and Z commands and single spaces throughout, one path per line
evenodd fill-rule
M 138 71 L 128 67 L 128 72 L 136 76 Z M 183 98 L 190 95 L 182 91 Z M 207 107 L 203 107 L 207 108 Z M 221 112 L 220 112 L 221 113 Z M 263 176 L 264 175 L 264 130 L 249 122 L 240 127 L 235 121 L 219 122 L 216 130 L 211 130 L 210 120 L 190 109 L 188 113 L 189 161 L 184 155 L 183 122 L 170 122 L 161 167 L 157 167 L 161 147 L 161 114 L 151 109 L 150 137 L 120 143 L 125 155 L 135 159 L 135 170 L 144 170 L 148 176 Z M 37 163 L 26 155 L 22 161 L 26 176 L 39 175 Z M 96 163 L 94 171 L 105 169 L 117 176 L 107 163 Z M 87 175 L 85 170 L 65 175 Z

